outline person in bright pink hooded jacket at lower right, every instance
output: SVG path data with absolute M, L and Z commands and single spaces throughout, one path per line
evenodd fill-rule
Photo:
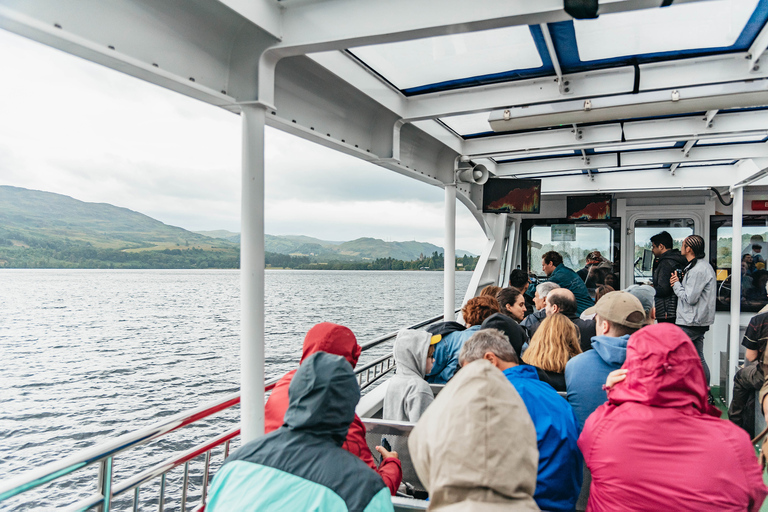
M 588 512 L 760 509 L 768 488 L 755 449 L 708 403 L 698 353 L 679 327 L 633 334 L 606 387 L 608 402 L 579 438 L 592 472 Z

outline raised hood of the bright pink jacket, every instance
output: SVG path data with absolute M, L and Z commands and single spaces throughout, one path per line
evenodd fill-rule
M 629 338 L 627 378 L 608 392 L 614 405 L 637 402 L 655 407 L 692 406 L 720 417 L 707 401 L 708 387 L 696 348 L 679 327 L 649 325 Z

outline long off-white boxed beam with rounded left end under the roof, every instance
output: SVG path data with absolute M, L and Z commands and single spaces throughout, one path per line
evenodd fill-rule
M 531 105 L 509 109 L 505 120 L 501 111 L 491 113 L 491 128 L 498 132 L 545 128 L 573 123 L 605 122 L 613 119 L 685 114 L 701 110 L 768 105 L 768 80 L 716 84 L 687 89 L 645 92 L 572 100 L 556 104 Z

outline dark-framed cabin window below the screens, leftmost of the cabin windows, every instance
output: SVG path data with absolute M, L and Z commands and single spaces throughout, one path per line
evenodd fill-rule
M 563 264 L 575 271 L 586 267 L 587 255 L 594 251 L 612 263 L 604 265 L 599 272 L 590 273 L 588 288 L 603 284 L 608 273 L 619 277 L 620 248 L 618 244 L 620 219 L 593 222 L 542 219 L 524 220 L 522 225 L 523 268 L 535 274 L 540 280 L 547 276 L 541 268 L 541 257 L 548 251 L 557 251 L 563 257 Z M 591 278 L 594 276 L 594 279 Z

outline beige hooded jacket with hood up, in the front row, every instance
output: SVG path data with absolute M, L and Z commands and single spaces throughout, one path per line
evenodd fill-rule
M 538 510 L 536 430 L 520 395 L 488 361 L 469 363 L 446 384 L 408 448 L 430 510 Z

